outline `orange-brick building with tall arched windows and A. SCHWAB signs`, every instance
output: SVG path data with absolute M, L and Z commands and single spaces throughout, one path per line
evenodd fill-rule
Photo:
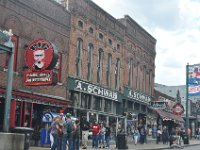
M 127 113 L 146 124 L 156 40 L 129 16 L 115 19 L 90 0 L 67 2 L 72 24 L 67 87 L 71 111 L 109 123 L 123 120 Z

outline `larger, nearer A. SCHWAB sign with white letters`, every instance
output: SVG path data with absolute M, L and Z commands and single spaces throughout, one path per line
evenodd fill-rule
M 118 92 L 79 79 L 68 78 L 69 89 L 118 101 Z

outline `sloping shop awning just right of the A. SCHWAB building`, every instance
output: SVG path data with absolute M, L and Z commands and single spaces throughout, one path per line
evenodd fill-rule
M 181 116 L 178 116 L 178 115 L 175 115 L 175 114 L 163 111 L 163 110 L 156 110 L 156 111 L 163 120 L 172 120 L 172 121 L 184 122 L 184 120 Z

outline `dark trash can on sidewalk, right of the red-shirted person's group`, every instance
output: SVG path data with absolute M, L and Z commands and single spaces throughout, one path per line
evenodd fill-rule
M 128 149 L 127 138 L 125 133 L 117 134 L 117 148 L 118 149 Z

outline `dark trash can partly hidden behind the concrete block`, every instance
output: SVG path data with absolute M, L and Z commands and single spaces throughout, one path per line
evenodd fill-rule
M 13 129 L 11 129 L 11 132 L 25 134 L 24 150 L 29 150 L 30 138 L 31 138 L 31 134 L 33 133 L 33 128 L 15 127 Z

